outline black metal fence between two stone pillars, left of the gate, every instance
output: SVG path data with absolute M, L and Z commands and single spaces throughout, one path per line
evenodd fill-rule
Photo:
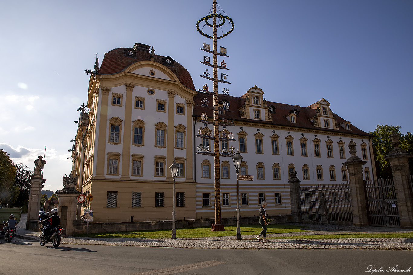
M 300 204 L 303 221 L 353 221 L 349 182 L 300 186 Z

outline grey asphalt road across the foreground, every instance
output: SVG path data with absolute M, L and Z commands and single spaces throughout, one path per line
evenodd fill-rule
M 413 251 L 362 249 L 187 249 L 0 240 L 0 274 L 258 275 L 371 274 L 399 266 L 413 272 Z M 373 272 L 377 274 L 381 272 Z M 408 272 L 398 272 L 407 274 Z

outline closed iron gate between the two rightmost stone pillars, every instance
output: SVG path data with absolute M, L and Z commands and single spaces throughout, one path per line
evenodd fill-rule
M 393 179 L 364 181 L 367 218 L 370 226 L 400 226 L 399 209 Z

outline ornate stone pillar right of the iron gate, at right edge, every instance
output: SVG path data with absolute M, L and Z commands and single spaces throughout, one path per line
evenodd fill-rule
M 390 136 L 394 149 L 385 156 L 389 160 L 392 167 L 394 189 L 396 191 L 397 206 L 399 208 L 400 228 L 413 228 L 413 195 L 410 183 L 409 158 L 412 154 L 406 153 L 405 150 L 399 148 L 399 135 L 393 133 Z

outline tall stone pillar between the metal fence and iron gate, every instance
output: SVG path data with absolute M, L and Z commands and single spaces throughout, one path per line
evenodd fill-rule
M 363 181 L 363 165 L 367 162 L 356 156 L 356 143 L 350 141 L 349 152 L 351 157 L 343 165 L 347 166 L 349 172 L 351 212 L 353 213 L 354 226 L 368 226 L 366 188 Z

